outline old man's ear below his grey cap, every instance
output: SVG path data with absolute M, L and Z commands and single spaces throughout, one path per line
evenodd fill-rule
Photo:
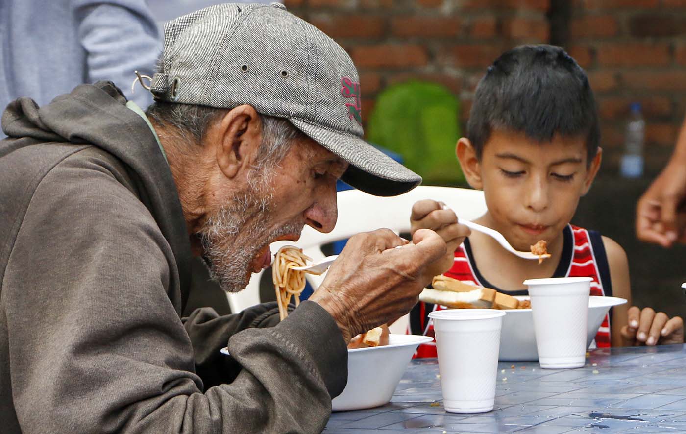
M 206 145 L 215 147 L 217 166 L 226 178 L 252 167 L 262 141 L 262 125 L 255 108 L 244 104 L 229 110 L 215 123 Z

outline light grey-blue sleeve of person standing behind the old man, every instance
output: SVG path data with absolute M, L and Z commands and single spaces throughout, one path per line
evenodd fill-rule
M 139 84 L 132 93 L 134 71 L 152 77 L 162 52 L 160 32 L 145 0 L 71 0 L 71 8 L 86 51 L 88 82 L 110 80 L 145 110 L 152 95 Z

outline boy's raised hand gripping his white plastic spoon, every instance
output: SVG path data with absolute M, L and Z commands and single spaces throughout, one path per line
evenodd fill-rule
M 447 208 L 443 202 L 436 202 L 435 200 L 420 200 L 412 206 L 412 215 L 410 215 L 410 233 L 419 229 L 431 229 L 445 241 L 447 251 L 445 255 L 431 265 L 429 272 L 434 273 L 434 276 L 447 272 L 453 267 L 455 261 L 454 252 L 458 246 L 464 241 L 464 237 L 471 234 L 471 230 L 458 223 L 458 216 L 453 210 Z

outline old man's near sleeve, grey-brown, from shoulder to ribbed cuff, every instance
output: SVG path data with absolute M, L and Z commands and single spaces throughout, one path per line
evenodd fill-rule
M 228 349 L 242 369 L 204 389 L 167 294 L 172 261 L 147 209 L 106 169 L 70 157 L 45 177 L 2 292 L 24 433 L 322 431 L 347 377 L 333 318 L 303 302 L 274 327 L 236 333 Z

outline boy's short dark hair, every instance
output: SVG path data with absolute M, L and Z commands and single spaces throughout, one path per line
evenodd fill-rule
M 477 158 L 493 130 L 523 132 L 541 142 L 556 133 L 583 136 L 591 164 L 600 130 L 586 73 L 560 47 L 522 45 L 506 51 L 476 88 L 467 138 Z

